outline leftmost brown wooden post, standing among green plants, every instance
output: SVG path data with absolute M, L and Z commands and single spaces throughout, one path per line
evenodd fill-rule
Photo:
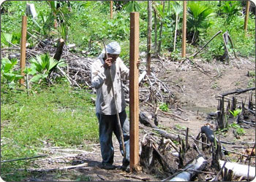
M 26 16 L 22 17 L 21 43 L 20 43 L 20 75 L 24 76 L 26 64 Z M 24 79 L 20 79 L 20 84 L 24 84 Z

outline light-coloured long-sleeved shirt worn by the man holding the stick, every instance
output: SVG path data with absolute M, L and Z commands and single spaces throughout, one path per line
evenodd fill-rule
M 124 65 L 121 58 L 117 58 L 116 62 L 112 63 L 110 69 L 104 68 L 102 66 L 103 64 L 104 60 L 98 58 L 91 65 L 91 86 L 96 89 L 97 93 L 96 113 L 104 115 L 116 114 L 116 104 L 113 99 L 113 91 L 111 90 L 110 74 L 116 95 L 118 113 L 121 113 L 126 107 L 122 80 L 129 79 L 129 69 Z

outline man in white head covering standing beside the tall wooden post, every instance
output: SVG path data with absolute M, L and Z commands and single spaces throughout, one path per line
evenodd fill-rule
M 116 41 L 111 42 L 105 48 L 108 57 L 105 54 L 105 50 L 103 50 L 102 54 L 99 55 L 99 58 L 91 65 L 91 85 L 97 92 L 96 115 L 99 120 L 99 142 L 102 154 L 102 168 L 107 170 L 115 168 L 113 166 L 113 132 L 120 144 L 121 154 L 124 156 L 121 133 L 118 129 L 118 120 L 116 116 L 117 103 L 126 154 L 121 169 L 126 170 L 127 167 L 129 167 L 129 121 L 125 111 L 126 103 L 124 100 L 122 80 L 129 79 L 129 69 L 124 65 L 121 58 L 118 57 L 121 52 L 121 47 Z M 113 99 L 111 82 L 113 82 L 116 103 Z

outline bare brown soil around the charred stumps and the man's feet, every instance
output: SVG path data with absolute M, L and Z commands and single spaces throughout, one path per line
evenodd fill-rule
M 154 74 L 162 82 L 165 82 L 175 95 L 175 104 L 170 107 L 170 113 L 184 119 L 178 119 L 175 116 L 158 111 L 158 127 L 178 135 L 184 135 L 188 127 L 189 135 L 195 138 L 204 125 L 208 124 L 215 129 L 216 122 L 214 119 L 208 119 L 208 114 L 217 111 L 217 95 L 237 89 L 246 89 L 252 79 L 248 76 L 248 71 L 255 71 L 255 63 L 252 60 L 247 58 L 233 59 L 229 64 L 216 61 L 203 63 L 201 60 L 193 60 L 196 64 L 192 64 L 189 60 L 184 62 L 152 60 Z M 255 87 L 254 84 L 252 87 Z M 227 98 L 232 98 L 232 96 L 227 95 Z M 249 92 L 236 95 L 236 98 L 240 102 L 245 99 L 248 102 Z M 255 95 L 253 102 L 255 103 Z M 140 111 L 146 112 L 149 118 L 154 112 L 153 108 L 147 103 L 140 103 Z M 255 117 L 252 117 L 252 122 L 255 122 Z M 233 144 L 223 144 L 225 149 L 244 154 L 245 149 L 252 148 L 255 143 L 255 127 L 244 128 L 246 133 L 239 136 L 240 138 L 235 137 L 233 130 L 231 128 L 228 132 L 222 132 L 219 135 L 220 141 L 233 142 Z M 148 131 L 153 130 L 140 124 L 140 141 Z M 59 148 L 48 147 L 47 149 L 52 152 L 50 157 L 38 159 L 34 161 L 34 165 L 37 165 L 39 169 L 48 170 L 86 163 L 87 165 L 69 170 L 33 172 L 26 178 L 26 181 L 161 181 L 171 175 L 161 171 L 157 173 L 144 171 L 137 174 L 122 171 L 120 169 L 122 157 L 118 150 L 116 137 L 113 137 L 113 143 L 115 149 L 113 165 L 116 166 L 115 170 L 100 168 L 102 158 L 99 143 L 85 141 L 85 146 L 78 146 L 72 151 L 65 151 L 65 149 L 61 151 Z M 74 155 L 70 156 L 70 154 Z M 208 156 L 211 157 L 211 155 Z M 235 160 L 239 159 L 240 155 L 230 153 L 228 157 Z M 191 158 L 188 157 L 188 159 Z M 170 166 L 176 169 L 177 160 L 173 158 L 172 162 Z M 245 164 L 246 159 L 242 159 L 242 162 Z M 255 166 L 255 158 L 252 158 L 251 165 Z M 197 178 L 195 181 L 200 181 L 200 179 L 205 180 L 206 178 Z

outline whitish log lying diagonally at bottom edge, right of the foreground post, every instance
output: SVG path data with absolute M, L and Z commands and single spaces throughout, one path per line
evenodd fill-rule
M 196 170 L 203 170 L 206 165 L 206 159 L 199 155 L 196 159 L 184 167 L 185 171 L 178 173 L 178 175 L 171 178 L 169 181 L 191 181 L 191 178 L 197 174 Z

